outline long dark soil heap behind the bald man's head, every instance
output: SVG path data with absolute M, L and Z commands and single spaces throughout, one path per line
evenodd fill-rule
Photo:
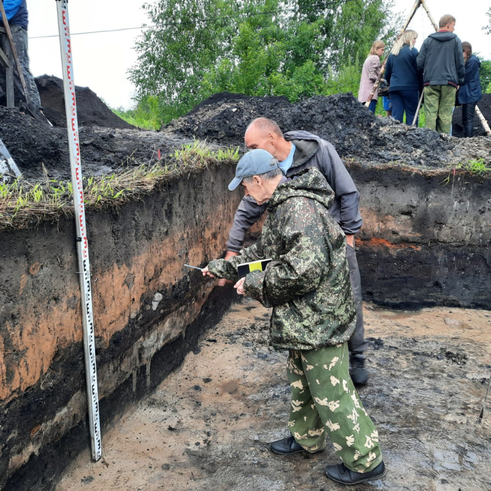
M 286 98 L 235 97 L 197 110 L 163 126 L 165 134 L 181 133 L 243 148 L 243 136 L 257 117 L 274 119 L 283 131 L 304 129 L 331 142 L 344 158 L 363 163 L 398 162 L 439 167 L 483 158 L 491 161 L 487 138 L 456 139 L 426 128 L 412 128 L 392 118 L 374 116 L 351 93 L 316 96 L 297 104 Z

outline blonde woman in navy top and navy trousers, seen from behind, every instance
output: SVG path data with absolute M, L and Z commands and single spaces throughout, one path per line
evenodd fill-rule
M 385 72 L 385 78 L 390 85 L 389 94 L 392 102 L 392 117 L 402 122 L 406 112 L 407 124 L 413 124 L 421 85 L 421 77 L 418 76 L 416 66 L 418 50 L 414 48 L 417 37 L 418 33 L 416 31 L 408 29 L 403 32 L 395 42 L 387 58 Z

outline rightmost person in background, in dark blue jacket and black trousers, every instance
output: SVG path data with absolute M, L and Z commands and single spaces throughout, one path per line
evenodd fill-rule
M 474 111 L 476 103 L 481 100 L 481 81 L 479 79 L 479 70 L 481 60 L 472 54 L 471 43 L 464 41 L 462 51 L 465 60 L 465 78 L 464 83 L 460 85 L 458 92 L 459 103 L 462 104 L 462 125 L 464 127 L 464 136 L 472 137 L 474 130 Z

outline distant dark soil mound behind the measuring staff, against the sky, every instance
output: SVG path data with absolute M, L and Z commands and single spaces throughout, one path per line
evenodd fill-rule
M 63 80 L 42 75 L 36 77 L 36 85 L 44 107 L 44 115 L 53 126 L 66 127 Z M 105 128 L 133 128 L 116 116 L 88 87 L 75 86 L 79 126 L 103 126 Z

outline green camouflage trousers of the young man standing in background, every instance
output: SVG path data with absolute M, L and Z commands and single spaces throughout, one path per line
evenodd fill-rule
M 453 85 L 427 85 L 423 92 L 425 94 L 425 128 L 450 134 L 456 87 Z

